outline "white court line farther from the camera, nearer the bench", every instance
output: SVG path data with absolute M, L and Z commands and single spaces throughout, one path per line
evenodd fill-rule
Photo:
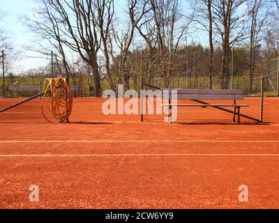
M 0 141 L 0 144 L 37 143 L 279 143 L 278 140 L 17 140 Z

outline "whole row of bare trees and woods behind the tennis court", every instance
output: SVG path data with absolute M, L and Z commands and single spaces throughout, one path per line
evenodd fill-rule
M 114 91 L 141 77 L 164 79 L 166 86 L 172 77 L 208 77 L 210 87 L 220 78 L 227 89 L 233 75 L 248 77 L 252 87 L 278 57 L 278 0 L 126 0 L 124 10 L 114 0 L 38 2 L 38 16 L 24 19 L 40 39 L 28 49 L 53 52 L 54 68 L 22 75 L 54 69 L 73 84 L 88 80 L 97 96 L 102 79 Z

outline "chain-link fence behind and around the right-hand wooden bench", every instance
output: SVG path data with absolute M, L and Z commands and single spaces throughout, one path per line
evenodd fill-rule
M 241 109 L 242 121 L 244 123 L 278 122 L 277 109 L 279 108 L 278 91 L 271 88 L 271 84 L 277 82 L 276 78 L 246 78 L 235 79 L 209 79 L 209 78 L 187 78 L 174 77 L 170 79 L 153 79 L 146 89 L 241 89 L 244 100 L 239 100 L 241 105 L 248 105 Z M 204 103 L 216 104 L 216 100 L 203 100 Z M 195 104 L 193 100 L 179 100 L 179 104 Z M 218 100 L 218 104 L 229 104 L 224 100 Z M 233 103 L 233 101 L 232 101 Z M 146 102 L 146 107 L 156 107 Z M 193 123 L 229 123 L 232 121 L 233 108 L 230 112 L 224 112 L 214 107 L 178 107 L 178 122 Z M 165 114 L 146 114 L 144 121 L 164 121 Z

